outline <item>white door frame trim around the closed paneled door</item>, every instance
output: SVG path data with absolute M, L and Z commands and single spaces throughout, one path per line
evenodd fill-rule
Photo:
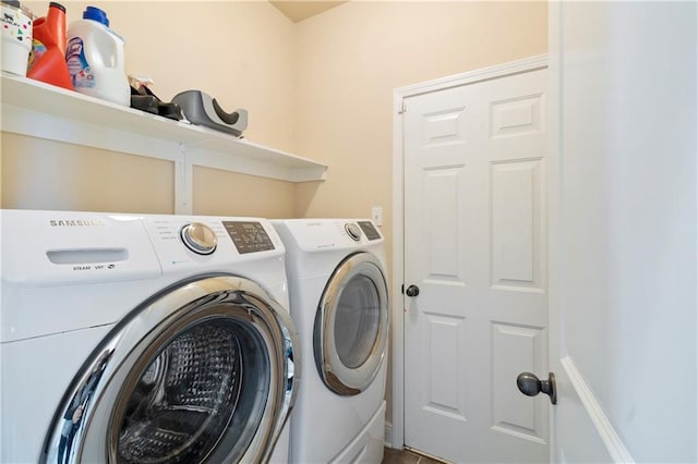
M 401 292 L 405 277 L 405 147 L 402 145 L 405 100 L 421 94 L 546 68 L 547 54 L 538 54 L 393 90 L 393 230 L 395 231 L 393 234 L 393 276 L 395 278 L 390 296 L 396 303 L 393 305 L 393 341 L 390 345 L 393 417 L 392 424 L 386 424 L 385 430 L 385 441 L 393 448 L 402 449 L 405 444 L 405 307 Z

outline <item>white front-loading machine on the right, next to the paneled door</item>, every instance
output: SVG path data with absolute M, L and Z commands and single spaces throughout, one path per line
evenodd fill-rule
M 291 317 L 305 356 L 291 462 L 377 464 L 389 322 L 383 237 L 369 220 L 272 223 L 286 245 Z

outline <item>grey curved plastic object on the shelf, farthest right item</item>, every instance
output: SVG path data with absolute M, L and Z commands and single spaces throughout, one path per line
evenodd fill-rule
M 172 98 L 178 103 L 184 117 L 192 123 L 242 136 L 242 131 L 248 129 L 248 110 L 237 109 L 228 113 L 218 105 L 215 98 L 201 90 L 186 90 Z

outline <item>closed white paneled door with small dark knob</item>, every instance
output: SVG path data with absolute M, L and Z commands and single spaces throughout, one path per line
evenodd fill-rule
M 549 460 L 546 73 L 405 100 L 405 443 L 448 461 Z

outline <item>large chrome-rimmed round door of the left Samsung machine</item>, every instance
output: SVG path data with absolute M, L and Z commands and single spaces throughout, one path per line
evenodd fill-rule
M 168 291 L 117 325 L 85 365 L 45 461 L 266 461 L 296 396 L 294 346 L 286 309 L 249 280 Z

